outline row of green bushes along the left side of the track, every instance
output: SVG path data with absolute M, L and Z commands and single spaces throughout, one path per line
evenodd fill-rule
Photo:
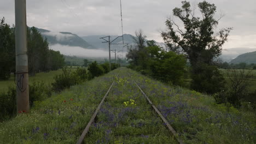
M 108 65 L 109 63 L 104 63 L 101 65 Z M 63 67 L 62 73 L 54 77 L 54 82 L 51 85 L 45 82 L 33 82 L 30 84 L 30 106 L 34 106 L 34 101 L 42 101 L 51 96 L 52 91 L 61 92 L 65 88 L 70 88 L 71 86 L 80 84 L 87 81 L 88 79 L 93 79 L 94 77 L 103 75 L 104 69 L 98 65 L 95 61 L 89 66 L 88 70 L 85 67 L 68 68 Z M 118 68 L 118 64 L 112 64 L 113 69 Z M 95 69 L 96 67 L 96 69 Z M 100 69 L 97 69 L 100 68 Z M 109 70 L 109 69 L 108 69 Z M 92 71 L 92 72 L 91 72 Z M 96 75 L 95 75 L 96 74 Z M 98 75 L 100 74 L 100 75 Z M 92 77 L 94 75 L 94 77 Z M 16 115 L 16 88 L 10 87 L 7 92 L 0 93 L 0 121 L 4 121 Z

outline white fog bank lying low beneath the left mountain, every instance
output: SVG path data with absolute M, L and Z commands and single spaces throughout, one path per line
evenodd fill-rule
M 67 45 L 55 44 L 55 45 L 50 45 L 49 48 L 54 51 L 60 51 L 61 54 L 67 55 L 67 56 L 108 57 L 108 51 L 84 49 L 79 46 L 67 46 Z

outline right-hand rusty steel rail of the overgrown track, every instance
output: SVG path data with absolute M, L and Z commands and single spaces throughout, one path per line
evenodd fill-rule
M 130 75 L 130 74 L 128 74 Z M 132 76 L 130 75 L 131 79 Z M 137 82 L 135 80 L 132 79 L 133 82 L 135 82 L 136 86 L 139 88 L 139 91 L 141 91 L 141 93 L 144 95 L 144 97 L 148 100 L 148 103 L 153 107 L 153 109 L 156 111 L 156 113 L 158 113 L 158 115 L 161 117 L 162 121 L 164 121 L 164 123 L 166 124 L 166 127 L 172 132 L 173 136 L 175 137 L 175 139 L 180 143 L 183 144 L 183 141 L 181 139 L 178 138 L 178 133 L 176 132 L 176 130 L 174 130 L 171 126 L 171 124 L 167 121 L 167 119 L 162 115 L 162 113 L 158 110 L 158 108 L 156 108 L 156 106 L 152 103 L 152 101 L 148 98 L 147 94 L 144 93 L 141 89 L 141 87 L 139 87 L 139 85 L 137 84 Z

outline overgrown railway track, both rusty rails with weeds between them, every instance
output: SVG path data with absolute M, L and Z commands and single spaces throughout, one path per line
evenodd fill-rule
M 119 73 L 120 73 L 120 71 L 119 71 Z M 118 77 L 119 76 L 119 73 L 118 73 L 118 75 L 116 76 L 116 77 Z M 110 106 L 110 105 L 115 105 L 115 103 L 121 103 L 121 102 L 123 102 L 124 100 L 123 100 L 123 98 L 121 98 L 122 96 L 120 96 L 120 95 L 125 95 L 125 94 L 123 94 L 123 93 L 121 93 L 121 92 L 118 92 L 118 94 L 117 95 L 119 95 L 118 97 L 119 98 L 117 98 L 117 95 L 114 95 L 114 93 L 111 93 L 110 94 L 110 96 L 109 96 L 109 93 L 113 90 L 113 86 L 114 86 L 114 84 L 117 84 L 116 86 L 118 86 L 118 85 L 123 85 L 123 88 L 125 89 L 126 87 L 129 87 L 129 86 L 131 86 L 130 87 L 130 89 L 125 89 L 125 90 L 127 90 L 127 91 L 131 91 L 131 93 L 132 92 L 136 92 L 136 88 L 137 88 L 137 91 L 139 91 L 138 93 L 140 93 L 140 94 L 142 94 L 143 95 L 143 97 L 142 97 L 142 95 L 140 95 L 139 97 L 135 97 L 135 99 L 136 100 L 133 100 L 133 99 L 130 99 L 130 101 L 127 101 L 127 103 L 126 103 L 126 101 L 124 101 L 124 105 L 125 106 L 127 106 L 127 105 L 130 105 L 130 107 L 132 107 L 132 108 L 130 108 L 130 110 L 131 111 L 134 111 L 134 110 L 136 110 L 136 108 L 135 107 L 139 107 L 139 106 L 135 106 L 136 104 L 138 104 L 138 105 L 141 105 L 140 107 L 142 107 L 143 109 L 145 109 L 145 110 L 142 110 L 142 111 L 145 111 L 145 112 L 147 112 L 145 115 L 147 115 L 147 117 L 148 117 L 148 119 L 149 118 L 155 118 L 155 124 L 154 125 L 149 125 L 149 124 L 144 124 L 143 126 L 144 127 L 146 127 L 146 128 L 149 128 L 149 127 L 154 127 L 154 128 L 151 128 L 152 129 L 152 131 L 155 131 L 155 133 L 156 134 L 159 134 L 159 133 L 161 133 L 161 134 L 164 134 L 164 135 L 166 135 L 168 138 L 167 139 L 169 139 L 170 141 L 172 141 L 172 142 L 170 142 L 170 143 L 173 143 L 173 137 L 175 138 L 175 140 L 174 141 L 176 141 L 176 143 L 183 143 L 183 141 L 182 140 L 180 140 L 179 138 L 178 138 L 178 134 L 177 134 L 177 132 L 171 127 L 171 124 L 170 123 L 168 123 L 168 121 L 165 119 L 165 117 L 161 114 L 161 112 L 157 109 L 157 107 L 152 103 L 152 101 L 148 98 L 148 96 L 147 96 L 147 94 L 146 93 L 144 93 L 143 92 L 143 90 L 141 89 L 141 87 L 139 87 L 139 85 L 137 84 L 137 82 L 135 81 L 135 80 L 133 80 L 133 78 L 132 78 L 132 76 L 130 75 L 130 74 L 128 74 L 129 76 L 123 76 L 123 78 L 121 78 L 120 76 L 120 79 L 119 80 L 114 80 L 113 82 L 112 82 L 112 84 L 110 85 L 110 87 L 109 87 L 109 89 L 108 89 L 108 91 L 107 91 L 107 93 L 104 95 L 104 97 L 102 98 L 102 100 L 101 100 L 101 103 L 98 105 L 98 107 L 97 107 L 97 109 L 96 109 L 96 111 L 94 112 L 94 115 L 92 115 L 92 117 L 91 117 L 91 119 L 90 119 L 90 121 L 89 121 L 89 123 L 86 125 L 86 128 L 84 129 L 84 131 L 83 131 L 83 133 L 82 133 L 82 135 L 79 137 L 79 140 L 77 141 L 77 144 L 79 143 L 83 143 L 83 141 L 84 140 L 86 140 L 87 138 L 89 139 L 89 136 L 88 136 L 88 133 L 89 133 L 89 130 L 90 130 L 90 127 L 91 127 L 91 125 L 92 124 L 95 124 L 94 122 L 96 121 L 96 117 L 97 117 L 97 115 L 98 115 L 98 113 L 100 112 L 100 114 L 101 114 L 101 111 L 106 111 L 106 109 L 112 109 L 112 107 L 115 107 L 115 106 Z M 128 77 L 128 79 L 130 78 L 130 81 L 128 80 L 126 80 L 127 79 L 127 77 Z M 115 82 L 115 81 L 117 81 L 117 82 Z M 121 81 L 125 81 L 126 82 L 126 84 L 124 85 L 123 83 L 121 83 Z M 121 84 L 120 84 L 121 83 Z M 115 88 L 115 89 L 117 89 L 117 88 Z M 124 90 L 123 89 L 123 90 Z M 138 93 L 136 93 L 135 95 L 139 95 Z M 110 98 L 108 98 L 108 96 L 110 97 Z M 106 102 L 106 99 L 108 100 L 107 102 Z M 143 102 L 143 99 L 144 99 L 144 101 L 147 101 L 147 102 Z M 123 100 L 123 101 L 122 101 Z M 139 101 L 140 100 L 140 101 Z M 105 107 L 102 107 L 104 104 L 104 101 L 105 101 L 105 105 L 107 105 L 107 106 L 105 106 Z M 115 101 L 115 102 L 114 102 Z M 142 101 L 142 102 L 141 102 Z M 130 102 L 130 103 L 129 103 Z M 112 103 L 112 104 L 109 104 L 109 103 Z M 132 104 L 133 103 L 133 104 Z M 136 103 L 136 104 L 135 104 Z M 148 104 L 146 104 L 146 103 L 148 103 Z M 145 106 L 144 106 L 145 105 Z M 151 111 L 152 112 L 148 112 L 148 111 L 150 111 L 150 109 L 149 109 L 149 107 L 153 107 L 153 110 L 154 111 L 152 111 L 152 109 L 151 109 Z M 118 116 L 120 115 L 120 111 L 123 111 L 123 110 L 126 110 L 126 109 L 129 109 L 129 108 L 121 108 L 120 107 L 120 105 L 119 105 L 119 108 L 118 109 L 120 109 L 120 111 L 118 111 L 118 109 L 116 110 L 117 108 L 115 107 L 114 109 L 112 109 L 113 111 L 115 111 L 115 112 L 119 112 L 118 113 Z M 141 110 L 141 109 L 138 109 L 138 110 Z M 148 110 L 148 111 L 147 111 Z M 107 112 L 107 113 L 109 113 L 109 111 Z M 157 116 L 156 116 L 156 113 L 157 113 Z M 102 114 L 102 115 L 104 115 L 104 113 Z M 135 116 L 136 117 L 136 116 Z M 141 120 L 141 118 L 143 117 L 143 116 L 137 116 L 137 117 L 139 117 L 139 118 L 137 118 L 137 119 L 135 119 L 134 120 L 134 118 L 131 116 L 131 117 L 126 117 L 126 119 L 128 118 L 129 119 L 129 121 L 142 121 Z M 118 119 L 118 121 L 120 122 L 121 120 L 120 119 L 122 119 L 122 118 L 119 118 Z M 115 121 L 114 120 L 114 118 L 110 118 L 110 119 L 108 119 L 108 120 L 106 120 L 107 122 L 106 123 L 112 123 L 112 121 Z M 153 120 L 152 120 L 153 121 Z M 161 122 L 162 121 L 162 122 Z M 122 123 L 123 123 L 123 125 L 127 125 L 127 122 L 121 122 L 121 124 L 118 124 L 118 123 L 115 123 L 114 124 L 114 126 L 113 126 L 113 124 L 112 124 L 112 126 L 109 126 L 109 127 L 115 127 L 115 128 L 117 128 L 117 127 L 119 127 L 119 125 L 122 125 Z M 124 124 L 125 123 L 125 124 Z M 129 123 L 129 122 L 128 122 Z M 161 123 L 161 124 L 160 124 Z M 97 125 L 97 124 L 96 124 Z M 132 125 L 131 123 L 129 123 L 129 125 Z M 133 124 L 133 126 L 132 127 L 138 127 L 138 125 L 137 126 L 134 126 L 134 124 Z M 166 127 L 166 128 L 162 128 L 162 127 Z M 140 130 L 141 129 L 143 129 L 143 128 L 139 128 Z M 157 131 L 158 130 L 158 131 Z M 146 130 L 147 131 L 147 130 Z M 160 132 L 159 132 L 160 131 Z M 161 132 L 162 131 L 162 132 Z M 168 134 L 166 134 L 166 132 L 167 131 L 169 131 L 168 132 Z M 110 132 L 107 132 L 107 133 L 110 133 Z M 129 133 L 129 131 L 128 131 L 128 133 Z M 147 132 L 145 132 L 145 133 L 149 133 L 148 131 Z M 159 135 L 161 135 L 161 134 L 159 134 Z M 90 133 L 90 135 L 94 135 L 94 131 L 92 131 L 91 133 Z M 143 135 L 143 134 L 141 134 L 141 135 L 136 135 L 136 134 L 130 134 L 130 135 L 132 135 L 132 137 L 141 137 L 141 136 L 144 136 L 144 137 L 147 137 L 147 136 L 145 136 L 145 135 Z M 86 137 L 86 136 L 88 136 L 88 137 Z M 154 135 L 153 135 L 154 136 Z M 122 139 L 126 139 L 127 137 L 129 137 L 129 135 L 127 136 L 127 135 L 115 135 L 114 136 L 114 138 L 115 139 L 119 139 L 119 137 L 122 137 Z M 128 139 L 128 138 L 127 138 Z M 119 141 L 117 141 L 117 142 L 119 142 Z M 86 141 L 85 141 L 85 143 L 87 143 Z

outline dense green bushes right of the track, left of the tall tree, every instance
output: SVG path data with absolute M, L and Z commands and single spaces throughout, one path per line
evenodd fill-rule
M 148 47 L 129 50 L 126 55 L 131 60 L 129 68 L 166 83 L 182 85 L 186 65 L 184 55 L 162 50 L 154 40 L 147 41 L 147 45 Z

